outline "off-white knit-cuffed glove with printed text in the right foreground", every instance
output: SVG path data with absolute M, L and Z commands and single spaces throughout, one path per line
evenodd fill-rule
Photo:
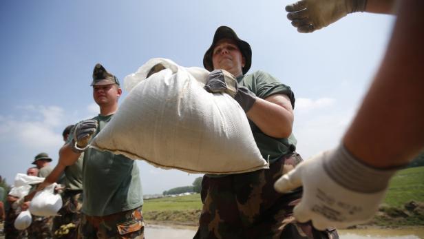
M 293 210 L 299 222 L 319 230 L 364 222 L 377 211 L 396 169 L 375 169 L 354 158 L 343 145 L 300 163 L 275 182 L 286 192 L 303 185 Z

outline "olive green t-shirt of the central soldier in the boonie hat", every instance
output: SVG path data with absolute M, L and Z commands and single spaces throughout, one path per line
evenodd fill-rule
M 237 82 L 247 87 L 248 90 L 255 93 L 259 98 L 266 98 L 273 94 L 285 94 L 290 98 L 293 109 L 295 108 L 295 95 L 290 87 L 282 84 L 266 72 L 257 71 L 253 72 L 253 74 L 240 76 L 237 78 Z M 250 120 L 249 124 L 251 125 L 253 138 L 255 138 L 256 145 L 262 157 L 264 157 L 265 160 L 269 160 L 269 163 L 273 163 L 281 156 L 295 151 L 297 141 L 293 134 L 288 138 L 273 138 L 264 134 L 264 132 Z

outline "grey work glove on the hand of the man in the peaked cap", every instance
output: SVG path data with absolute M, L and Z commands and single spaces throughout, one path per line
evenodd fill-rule
M 86 120 L 81 121 L 75 126 L 74 138 L 72 138 L 71 149 L 73 152 L 79 154 L 87 149 L 89 140 L 92 135 L 96 132 L 97 121 Z

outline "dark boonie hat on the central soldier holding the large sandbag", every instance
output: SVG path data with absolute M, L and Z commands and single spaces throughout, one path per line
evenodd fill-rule
M 244 56 L 244 59 L 246 60 L 246 64 L 242 68 L 243 74 L 246 74 L 246 72 L 248 72 L 248 70 L 251 68 L 251 65 L 252 65 L 251 45 L 249 45 L 246 41 L 243 41 L 242 39 L 237 37 L 237 34 L 235 34 L 233 29 L 225 25 L 220 26 L 215 31 L 215 35 L 213 35 L 213 41 L 212 41 L 211 47 L 208 50 L 206 50 L 206 52 L 204 53 L 204 56 L 203 56 L 204 68 L 206 68 L 206 70 L 209 70 L 209 72 L 213 71 L 212 52 L 213 52 L 213 48 L 215 48 L 215 44 L 221 39 L 233 39 L 237 43 L 237 46 L 240 49 L 240 52 L 242 52 L 242 55 Z

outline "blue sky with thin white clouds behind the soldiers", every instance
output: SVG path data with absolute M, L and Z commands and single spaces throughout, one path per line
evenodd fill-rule
M 292 87 L 297 151 L 308 158 L 335 147 L 379 66 L 394 17 L 350 14 L 300 34 L 286 19 L 288 3 L 1 1 L 0 175 L 12 183 L 39 152 L 56 164 L 63 128 L 98 114 L 89 87 L 96 63 L 121 82 L 153 57 L 202 67 L 220 25 L 251 44 L 249 72 L 264 70 Z M 138 165 L 145 194 L 202 176 Z

